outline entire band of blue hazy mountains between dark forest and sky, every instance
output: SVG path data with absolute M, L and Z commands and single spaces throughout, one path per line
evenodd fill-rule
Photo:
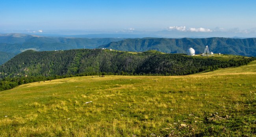
M 196 54 L 200 54 L 206 45 L 214 53 L 256 56 L 256 38 L 73 38 L 12 33 L 0 34 L 0 64 L 29 49 L 49 51 L 107 48 L 134 52 L 158 50 L 186 53 L 192 47 Z

